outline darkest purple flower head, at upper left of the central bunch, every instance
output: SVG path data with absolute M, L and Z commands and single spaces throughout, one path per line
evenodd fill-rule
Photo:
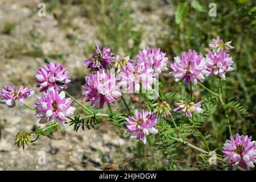
M 108 48 L 107 45 L 101 49 L 98 47 L 98 45 L 95 47 L 96 53 L 94 53 L 92 58 L 84 61 L 87 68 L 90 68 L 90 71 L 97 71 L 98 69 L 108 68 L 110 65 L 112 65 L 113 60 L 115 59 L 112 49 Z

